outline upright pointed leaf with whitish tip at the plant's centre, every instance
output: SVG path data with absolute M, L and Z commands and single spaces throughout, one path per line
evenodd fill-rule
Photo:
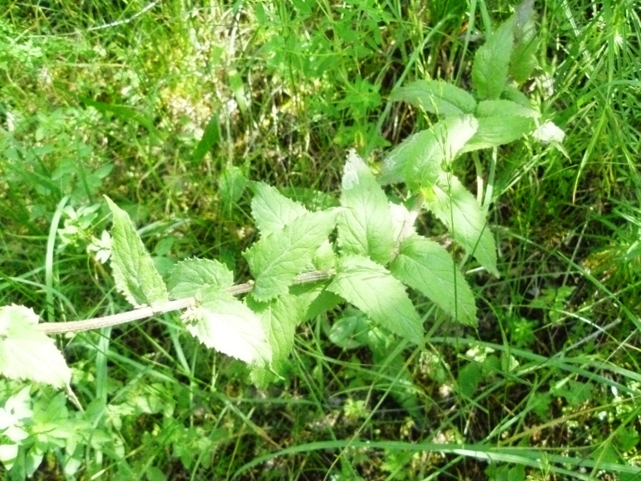
M 349 151 L 342 180 L 338 216 L 338 245 L 345 254 L 369 256 L 375 262 L 390 260 L 394 239 L 392 216 L 378 181 L 355 151 Z

